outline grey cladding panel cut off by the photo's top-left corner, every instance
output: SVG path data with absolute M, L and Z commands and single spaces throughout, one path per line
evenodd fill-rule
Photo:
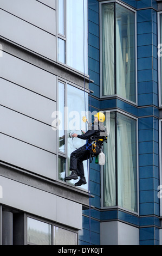
M 33 0 L 1 0 L 0 7 L 56 35 L 56 11 Z

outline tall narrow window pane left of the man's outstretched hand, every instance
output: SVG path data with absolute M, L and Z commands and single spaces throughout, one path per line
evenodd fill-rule
M 64 138 L 64 83 L 59 82 L 59 151 L 65 152 Z

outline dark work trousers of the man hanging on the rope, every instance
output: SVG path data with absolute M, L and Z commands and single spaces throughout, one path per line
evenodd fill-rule
M 83 145 L 79 149 L 76 149 L 70 155 L 70 170 L 76 170 L 78 176 L 85 176 L 83 161 L 90 158 L 90 153 L 92 152 L 92 146 L 89 149 L 86 149 L 86 145 Z M 100 148 L 96 147 L 96 153 L 94 156 L 97 156 L 100 153 Z

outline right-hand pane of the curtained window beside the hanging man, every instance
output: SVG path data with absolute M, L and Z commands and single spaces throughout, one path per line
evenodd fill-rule
M 118 205 L 137 211 L 136 120 L 117 115 Z

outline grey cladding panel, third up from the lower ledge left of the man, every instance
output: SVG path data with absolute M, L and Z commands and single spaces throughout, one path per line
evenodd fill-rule
M 56 102 L 0 78 L 0 105 L 51 125 Z

